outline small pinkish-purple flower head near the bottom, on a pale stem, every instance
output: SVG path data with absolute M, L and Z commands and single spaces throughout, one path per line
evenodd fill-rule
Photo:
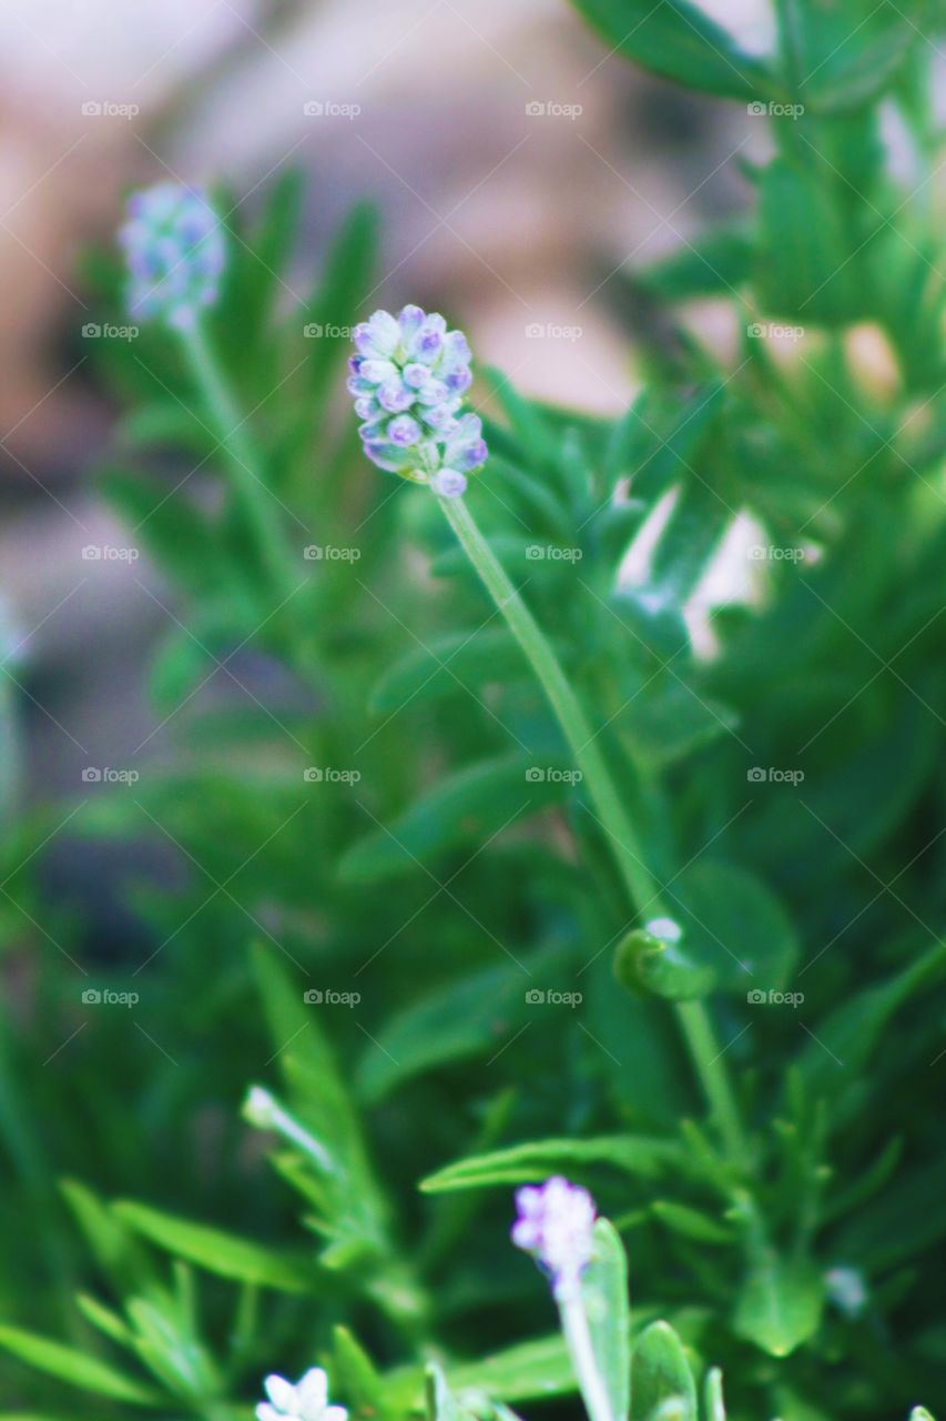
M 587 1189 L 560 1175 L 516 1192 L 511 1239 L 548 1273 L 555 1297 L 575 1292 L 594 1252 L 595 1204 Z

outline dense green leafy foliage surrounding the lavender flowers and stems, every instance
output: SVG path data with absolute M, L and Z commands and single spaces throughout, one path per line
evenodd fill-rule
M 341 331 L 374 213 L 288 308 L 281 179 L 227 219 L 207 330 L 268 534 L 199 367 L 162 331 L 134 361 L 102 342 L 128 414 L 99 487 L 166 583 L 146 689 L 173 753 L 68 834 L 179 874 L 128 885 L 141 961 L 82 979 L 138 983 L 141 1012 L 81 1034 L 88 925 L 40 877 L 68 810 L 13 813 L 3 688 L 3 945 L 33 951 L 44 1023 L 0 1039 L 11 1421 L 247 1421 L 266 1373 L 317 1361 L 358 1421 L 574 1405 L 507 1243 L 511 1188 L 553 1174 L 614 1219 L 584 1277 L 614 1421 L 929 1421 L 916 1397 L 943 1393 L 942 14 L 780 0 L 756 57 L 682 0 L 578 9 L 773 138 L 747 215 L 634 276 L 660 318 L 632 408 L 494 374 L 464 500 L 641 860 L 435 499 L 355 452 Z M 730 362 L 687 328 L 703 296 L 730 303 Z M 707 608 L 720 550 L 751 593 Z M 67 1071 L 41 1069 L 50 1030 Z

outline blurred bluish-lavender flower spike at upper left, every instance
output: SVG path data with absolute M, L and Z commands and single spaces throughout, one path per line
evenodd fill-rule
M 134 193 L 118 240 L 131 315 L 187 330 L 216 301 L 226 250 L 220 219 L 200 190 L 161 182 Z

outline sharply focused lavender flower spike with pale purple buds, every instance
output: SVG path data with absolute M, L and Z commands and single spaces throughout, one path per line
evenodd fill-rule
M 472 384 L 470 347 L 442 315 L 405 306 L 355 327 L 348 389 L 365 453 L 379 469 L 459 497 L 466 476 L 486 463 L 483 426 L 460 414 Z

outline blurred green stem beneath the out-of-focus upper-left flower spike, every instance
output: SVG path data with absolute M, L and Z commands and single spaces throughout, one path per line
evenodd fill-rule
M 246 419 L 240 415 L 226 375 L 199 321 L 180 331 L 180 345 L 203 395 L 213 432 L 230 463 L 234 493 L 246 527 L 257 540 L 260 560 L 273 591 L 281 598 L 288 598 L 295 593 L 295 581 L 290 573 L 286 540 L 273 495 L 263 477 L 263 460 L 247 432 Z

